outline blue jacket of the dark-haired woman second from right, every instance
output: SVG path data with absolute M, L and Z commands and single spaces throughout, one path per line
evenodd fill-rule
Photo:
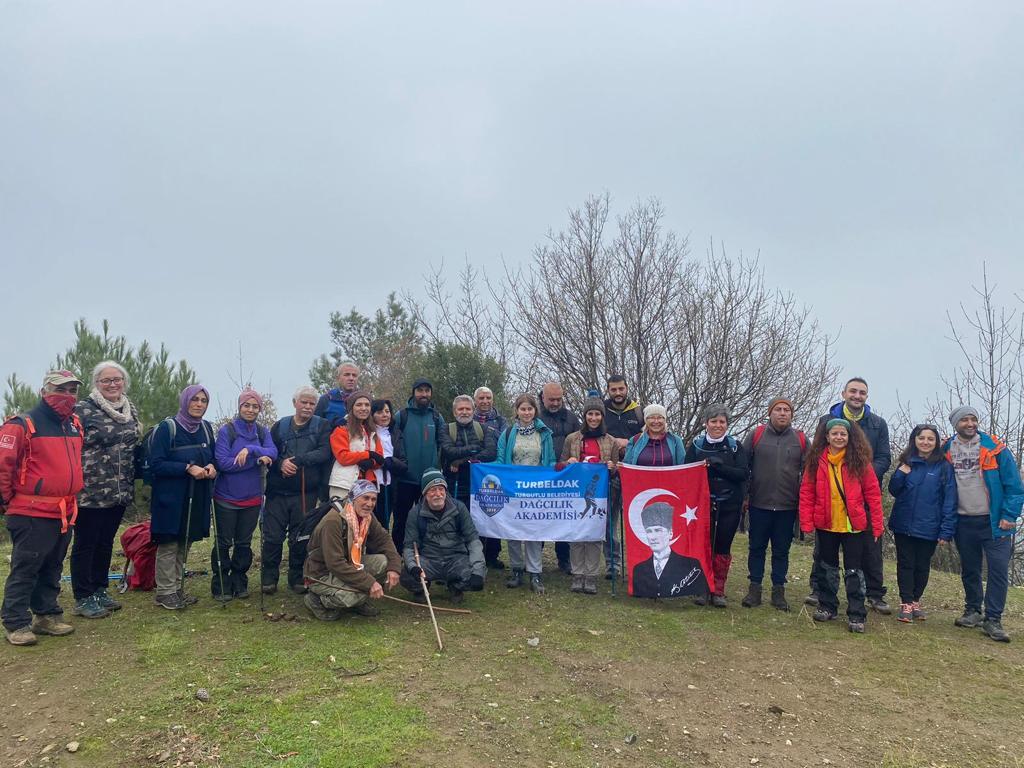
M 889 516 L 894 534 L 952 541 L 956 534 L 956 474 L 945 459 L 926 462 L 919 456 L 910 459 L 910 473 L 898 469 L 889 478 L 889 493 L 895 503 Z

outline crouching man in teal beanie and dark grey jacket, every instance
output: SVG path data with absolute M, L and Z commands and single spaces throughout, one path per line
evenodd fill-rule
M 406 544 L 402 557 L 406 568 L 401 586 L 423 602 L 420 568 L 413 553 L 415 544 L 420 551 L 420 566 L 427 582 L 443 582 L 454 603 L 462 602 L 466 590 L 483 589 L 483 546 L 473 525 L 466 505 L 449 496 L 444 475 L 436 469 L 423 473 L 420 482 L 423 495 L 409 513 L 406 523 Z

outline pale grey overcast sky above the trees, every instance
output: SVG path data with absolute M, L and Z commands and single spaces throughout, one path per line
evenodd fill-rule
M 838 5 L 0 0 L 0 376 L 105 317 L 283 403 L 332 310 L 608 190 L 920 400 L 982 262 L 1024 293 L 1024 5 Z

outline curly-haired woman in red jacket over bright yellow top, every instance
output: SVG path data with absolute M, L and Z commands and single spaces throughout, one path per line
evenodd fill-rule
M 839 551 L 843 550 L 846 615 L 850 632 L 863 632 L 863 562 L 882 536 L 882 492 L 871 449 L 860 427 L 846 419 L 818 424 L 800 485 L 800 529 L 815 531 L 824 571 L 815 622 L 839 614 Z

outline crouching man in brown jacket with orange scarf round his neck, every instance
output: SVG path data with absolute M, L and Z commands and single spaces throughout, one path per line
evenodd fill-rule
M 398 584 L 401 559 L 374 515 L 376 506 L 377 485 L 356 480 L 343 511 L 332 504 L 309 538 L 303 566 L 309 592 L 303 600 L 321 621 L 338 620 L 342 609 L 375 616 L 380 609 L 368 598 L 378 600 Z

